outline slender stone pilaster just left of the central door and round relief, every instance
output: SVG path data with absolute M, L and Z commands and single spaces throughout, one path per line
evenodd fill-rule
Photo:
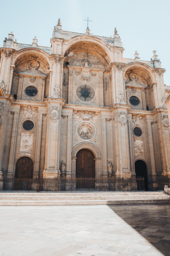
M 67 126 L 67 173 L 66 176 L 71 178 L 71 151 L 72 151 L 72 112 L 69 110 Z

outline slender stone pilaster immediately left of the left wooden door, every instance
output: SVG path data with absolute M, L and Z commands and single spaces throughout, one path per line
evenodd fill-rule
M 20 112 L 20 106 L 18 106 L 18 109 L 15 109 L 15 113 L 14 113 L 7 178 L 12 178 L 14 175 L 15 149 L 16 149 L 16 141 L 17 141 L 17 134 L 18 134 L 19 112 Z

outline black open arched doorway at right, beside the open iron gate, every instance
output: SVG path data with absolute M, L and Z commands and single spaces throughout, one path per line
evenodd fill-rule
M 147 166 L 144 161 L 137 160 L 135 162 L 135 173 L 136 177 L 144 178 L 145 190 L 148 190 L 148 174 L 147 174 Z

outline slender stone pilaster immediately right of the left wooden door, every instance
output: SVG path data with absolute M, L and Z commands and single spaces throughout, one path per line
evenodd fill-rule
M 37 140 L 36 140 L 36 150 L 35 150 L 35 164 L 33 177 L 39 177 L 39 166 L 40 166 L 40 147 L 41 147 L 41 131 L 42 131 L 42 113 L 43 110 L 38 110 L 38 120 L 37 120 Z

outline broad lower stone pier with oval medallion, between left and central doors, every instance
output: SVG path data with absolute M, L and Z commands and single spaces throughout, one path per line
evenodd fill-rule
M 60 177 L 60 129 L 61 110 L 65 100 L 48 98 L 47 139 L 45 149 L 44 178 Z

